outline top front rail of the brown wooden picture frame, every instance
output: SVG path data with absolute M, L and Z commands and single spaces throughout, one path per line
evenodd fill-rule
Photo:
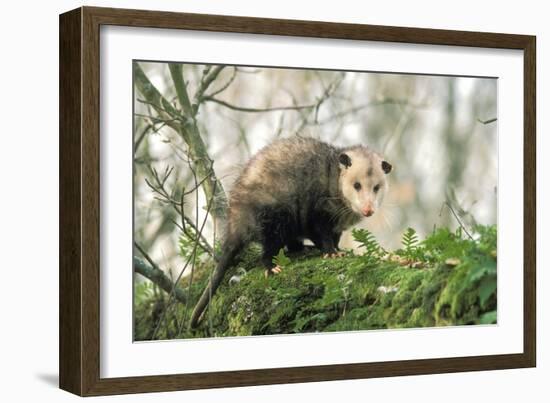
M 85 10 L 93 16 L 92 18 L 97 19 L 101 24 L 133 27 L 508 49 L 523 49 L 529 38 L 525 35 L 490 32 L 340 24 L 334 22 L 257 17 L 232 17 L 225 15 L 174 13 L 166 11 L 93 7 L 86 7 Z

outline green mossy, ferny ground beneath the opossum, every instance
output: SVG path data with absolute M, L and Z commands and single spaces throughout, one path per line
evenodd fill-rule
M 179 337 L 495 323 L 496 229 L 483 227 L 478 234 L 473 241 L 447 230 L 435 231 L 414 249 L 415 256 L 426 256 L 422 268 L 381 258 L 373 265 L 352 254 L 323 259 L 309 251 L 289 255 L 283 272 L 267 279 L 256 267 L 259 248 L 252 247 L 237 265 L 246 274 L 231 284 L 228 280 L 234 272 L 228 275 L 199 329 L 184 329 Z M 196 276 L 192 300 L 206 278 L 204 273 Z M 141 290 L 139 296 L 136 332 L 146 339 L 158 295 Z M 181 321 L 184 310 L 178 306 L 174 318 Z M 161 338 L 175 337 L 177 333 L 168 331 L 169 327 L 162 327 Z

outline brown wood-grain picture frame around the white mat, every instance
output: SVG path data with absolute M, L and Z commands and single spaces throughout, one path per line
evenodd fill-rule
M 524 53 L 523 353 L 100 377 L 99 92 L 102 25 L 498 49 Z M 536 365 L 535 37 L 82 7 L 60 16 L 60 387 L 81 396 L 525 368 Z

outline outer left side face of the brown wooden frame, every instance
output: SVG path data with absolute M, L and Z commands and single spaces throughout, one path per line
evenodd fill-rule
M 81 10 L 59 21 L 59 386 L 81 394 Z

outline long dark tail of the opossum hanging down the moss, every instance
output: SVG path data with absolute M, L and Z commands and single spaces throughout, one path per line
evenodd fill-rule
M 193 313 L 191 314 L 191 321 L 189 322 L 190 328 L 195 328 L 199 324 L 202 313 L 204 312 L 204 310 L 210 303 L 211 298 L 214 296 L 214 293 L 220 286 L 225 272 L 233 264 L 235 257 L 239 254 L 242 248 L 243 242 L 240 240 L 237 242 L 226 242 L 226 244 L 224 245 L 223 253 L 220 261 L 218 262 L 218 265 L 216 266 L 216 270 L 214 270 L 214 273 L 210 277 L 210 281 L 204 289 L 199 299 L 199 302 L 197 302 L 197 305 L 195 305 L 195 309 L 193 309 Z

